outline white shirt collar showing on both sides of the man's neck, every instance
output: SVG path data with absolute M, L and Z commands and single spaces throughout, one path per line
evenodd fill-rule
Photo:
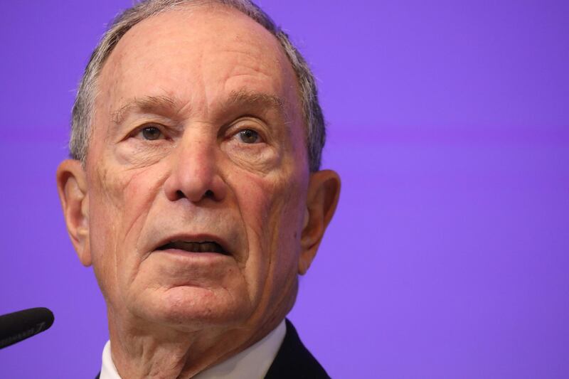
M 287 326 L 281 321 L 279 326 L 265 338 L 226 361 L 198 373 L 193 379 L 262 379 L 285 339 Z M 112 362 L 111 343 L 107 341 L 102 351 L 100 379 L 121 379 L 115 363 Z

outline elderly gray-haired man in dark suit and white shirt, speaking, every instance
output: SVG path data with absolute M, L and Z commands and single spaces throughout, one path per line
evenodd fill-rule
M 57 174 L 107 303 L 100 378 L 328 377 L 285 321 L 339 197 L 323 145 L 309 68 L 248 0 L 117 18 Z

